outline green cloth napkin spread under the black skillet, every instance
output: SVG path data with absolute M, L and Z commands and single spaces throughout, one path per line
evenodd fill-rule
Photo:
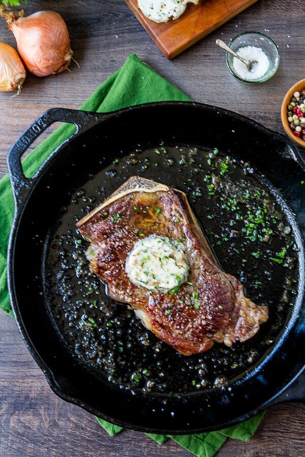
M 190 101 L 191 99 L 174 87 L 139 57 L 132 54 L 114 75 L 110 76 L 84 104 L 82 110 L 109 112 L 132 105 L 161 101 Z M 31 154 L 22 160 L 22 167 L 27 177 L 38 170 L 48 155 L 63 140 L 75 131 L 75 126 L 64 124 L 57 128 Z M 7 246 L 14 216 L 14 200 L 8 175 L 0 181 L 0 309 L 13 316 L 7 289 Z M 243 441 L 249 440 L 255 433 L 264 413 L 246 420 L 236 426 L 219 432 L 200 433 L 197 435 L 155 435 L 147 434 L 159 444 L 168 438 L 173 439 L 198 457 L 212 457 L 224 444 L 227 437 Z M 116 435 L 123 430 L 106 420 L 97 417 L 99 423 L 109 433 Z

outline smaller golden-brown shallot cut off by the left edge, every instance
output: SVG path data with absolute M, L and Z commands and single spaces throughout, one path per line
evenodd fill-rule
M 17 51 L 7 43 L 0 42 L 0 91 L 17 89 L 18 95 L 25 77 L 25 69 Z

